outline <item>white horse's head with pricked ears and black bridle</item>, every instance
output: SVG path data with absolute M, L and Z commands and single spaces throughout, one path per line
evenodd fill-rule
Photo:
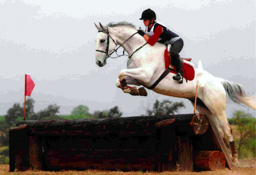
M 101 23 L 99 23 L 99 26 L 97 24 L 95 26 L 98 29 L 95 54 L 96 64 L 99 67 L 103 67 L 107 64 L 106 60 L 110 56 L 110 52 L 115 49 L 116 41 L 113 36 L 110 36 L 108 27 L 103 27 Z

